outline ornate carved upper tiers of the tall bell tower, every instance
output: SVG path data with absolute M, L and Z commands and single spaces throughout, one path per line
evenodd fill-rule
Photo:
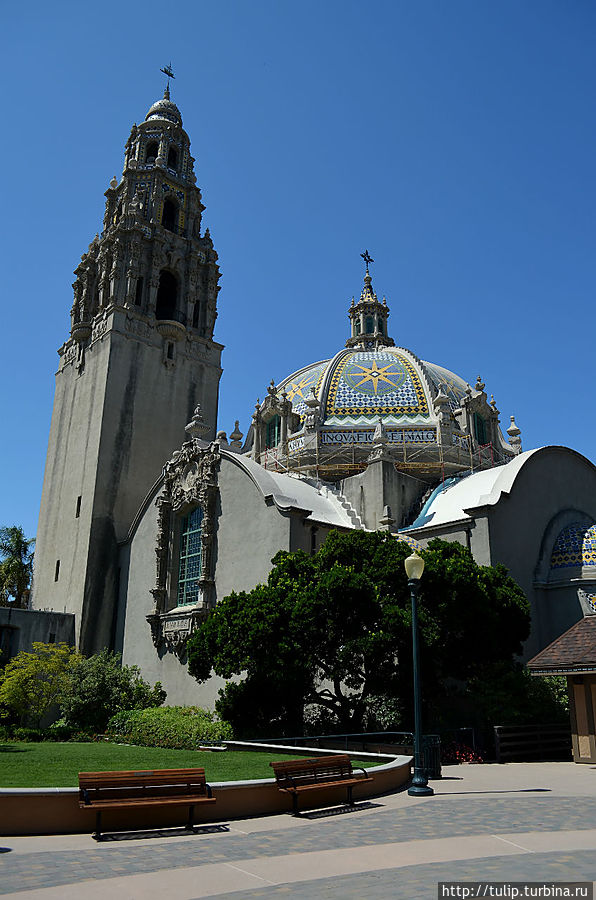
M 157 326 L 162 334 L 160 323 L 168 322 L 174 341 L 212 341 L 217 253 L 209 229 L 201 231 L 205 207 L 169 84 L 132 126 L 122 178 L 112 179 L 105 197 L 101 236 L 75 270 L 72 339 L 86 345 L 97 317 L 121 309 L 144 322 L 141 331 Z

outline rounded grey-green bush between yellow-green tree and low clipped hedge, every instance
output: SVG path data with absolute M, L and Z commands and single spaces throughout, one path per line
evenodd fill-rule
M 159 681 L 151 687 L 137 666 L 123 666 L 118 653 L 102 650 L 76 660 L 59 703 L 67 725 L 103 732 L 116 713 L 161 706 L 165 699 Z

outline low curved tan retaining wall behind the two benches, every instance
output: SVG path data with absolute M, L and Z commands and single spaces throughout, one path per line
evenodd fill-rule
M 253 745 L 254 746 L 254 745 Z M 247 745 L 244 745 L 248 749 Z M 262 744 L 254 747 L 263 751 Z M 271 747 L 273 751 L 273 747 Z M 311 752 L 310 748 L 280 747 L 274 752 Z M 329 751 L 313 750 L 312 755 L 329 753 Z M 351 754 L 352 755 L 352 754 Z M 379 754 L 353 754 L 354 759 L 376 758 Z M 383 756 L 382 759 L 387 759 Z M 370 781 L 363 781 L 354 788 L 354 800 L 365 800 L 378 797 L 403 788 L 410 779 L 411 757 L 397 756 L 390 762 L 369 768 L 373 776 Z M 207 778 L 209 771 L 207 767 Z M 222 822 L 227 819 L 247 818 L 249 816 L 267 816 L 275 813 L 290 812 L 292 798 L 289 794 L 278 790 L 274 778 L 259 781 L 223 781 L 210 782 L 213 795 L 217 798 L 214 805 L 195 808 L 195 824 Z M 345 802 L 345 787 L 329 787 L 314 792 L 314 796 L 302 796 L 300 809 L 313 809 L 320 806 Z M 182 825 L 186 821 L 187 808 L 181 806 L 147 807 L 145 809 L 106 810 L 102 815 L 102 830 L 123 828 L 160 828 Z M 73 834 L 92 832 L 95 829 L 95 812 L 79 807 L 78 788 L 0 788 L 0 834 Z

